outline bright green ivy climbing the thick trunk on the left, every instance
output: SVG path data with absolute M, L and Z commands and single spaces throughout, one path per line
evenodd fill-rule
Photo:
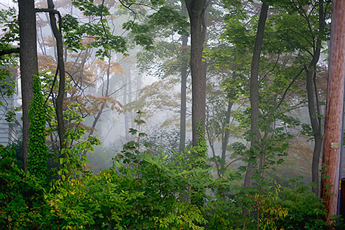
M 47 109 L 41 92 L 39 77 L 33 77 L 34 97 L 30 104 L 29 143 L 28 143 L 28 170 L 36 177 L 46 178 L 48 173 L 48 149 L 46 146 Z

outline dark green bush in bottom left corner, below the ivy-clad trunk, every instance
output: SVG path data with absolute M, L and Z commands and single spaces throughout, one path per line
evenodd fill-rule
M 1 229 L 45 229 L 49 216 L 41 178 L 24 175 L 11 148 L 0 151 Z

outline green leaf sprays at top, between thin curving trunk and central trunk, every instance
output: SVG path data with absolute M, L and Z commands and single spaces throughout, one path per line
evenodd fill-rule
M 128 6 L 124 9 L 132 10 L 136 5 L 135 1 L 124 2 Z M 152 50 L 154 31 L 168 26 L 172 27 L 173 32 L 186 33 L 185 28 L 188 26 L 186 18 L 180 17 L 179 13 L 169 6 L 162 6 L 165 1 L 151 1 L 152 6 L 159 8 L 148 15 L 145 23 L 138 23 L 135 20 L 128 20 L 122 24 L 124 30 L 130 30 L 132 41 L 139 46 L 143 46 L 146 50 Z M 92 22 L 81 22 L 72 15 L 65 15 L 62 19 L 63 37 L 66 47 L 69 50 L 77 51 L 85 49 L 81 44 L 83 36 L 92 37 L 86 43 L 88 48 L 97 48 L 96 55 L 103 58 L 109 57 L 110 50 L 122 52 L 127 51 L 127 41 L 124 37 L 113 35 L 112 28 L 108 26 L 106 17 L 110 16 L 110 7 L 104 3 L 97 4 L 93 0 L 88 1 L 72 1 L 73 6 L 77 7 L 86 17 L 92 17 Z M 140 5 L 140 3 L 139 3 Z M 152 7 L 151 6 L 151 7 Z M 136 10 L 136 9 L 134 9 Z M 135 12 L 132 10 L 132 12 Z M 142 9 L 139 9 L 142 10 Z M 137 17 L 135 17 L 137 19 Z M 153 32 L 152 32 L 153 31 Z

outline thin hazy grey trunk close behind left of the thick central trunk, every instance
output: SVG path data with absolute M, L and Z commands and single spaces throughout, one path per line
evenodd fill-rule
M 184 3 L 181 6 L 181 14 L 186 16 L 187 8 Z M 186 52 L 186 47 L 188 43 L 188 36 L 182 35 L 182 55 Z M 187 110 L 187 99 L 186 99 L 186 91 L 187 91 L 187 64 L 183 64 L 181 66 L 181 111 L 180 111 L 180 119 L 179 119 L 179 151 L 184 151 L 186 146 L 186 110 Z

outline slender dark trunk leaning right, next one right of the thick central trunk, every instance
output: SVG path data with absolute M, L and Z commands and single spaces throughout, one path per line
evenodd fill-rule
M 250 148 L 252 148 L 253 151 L 257 151 L 261 139 L 259 131 L 259 62 L 260 52 L 262 50 L 262 41 L 264 39 L 267 12 L 268 5 L 265 2 L 263 2 L 259 17 L 259 23 L 257 25 L 257 36 L 255 38 L 253 60 L 250 70 L 250 132 L 252 135 Z M 254 156 L 253 160 L 256 161 L 257 157 Z M 255 162 L 248 162 L 246 177 L 244 178 L 244 186 L 252 186 L 252 177 L 255 173 L 254 167 Z

